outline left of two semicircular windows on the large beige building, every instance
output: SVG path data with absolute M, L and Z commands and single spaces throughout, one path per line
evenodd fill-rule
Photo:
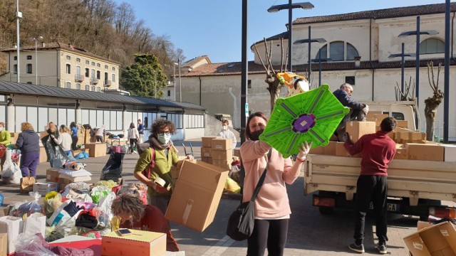
M 321 54 L 321 55 L 320 55 Z M 328 44 L 320 48 L 316 53 L 316 59 L 318 58 L 331 58 L 333 61 L 344 61 L 344 60 L 355 60 L 358 57 L 358 50 L 351 45 L 343 41 L 334 41 L 329 43 L 329 55 L 328 55 Z

